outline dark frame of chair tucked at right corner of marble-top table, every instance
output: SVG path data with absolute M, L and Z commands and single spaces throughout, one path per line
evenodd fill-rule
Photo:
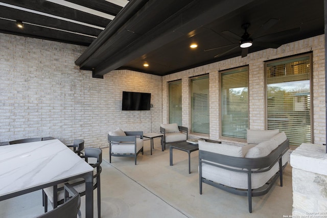
M 93 186 L 93 190 L 97 188 L 97 201 L 98 201 L 98 217 L 100 218 L 101 216 L 101 180 L 100 180 L 100 174 L 102 172 L 102 167 L 101 167 L 101 163 L 102 163 L 102 150 L 99 148 L 85 148 L 84 150 L 84 155 L 81 156 L 81 158 L 84 158 L 86 162 L 88 162 L 88 158 L 97 158 L 97 162 L 96 163 L 90 163 L 90 165 L 93 168 L 97 168 L 97 173 L 93 176 L 93 178 L 97 179 L 96 184 Z M 84 183 L 85 180 L 81 180 L 79 182 L 76 183 L 72 183 L 70 184 L 71 186 L 75 186 L 75 185 L 79 185 Z M 68 182 L 69 183 L 69 182 Z M 62 204 L 64 202 L 63 200 L 58 201 L 57 200 L 57 192 L 63 190 L 63 187 L 57 188 L 57 185 L 53 186 L 53 193 L 54 193 L 54 199 L 53 199 L 53 208 L 56 208 L 58 205 Z M 44 212 L 46 212 L 48 210 L 48 196 L 46 196 L 46 193 L 44 191 L 42 191 L 43 193 L 43 205 L 44 205 Z M 79 193 L 80 196 L 84 196 L 85 195 L 85 190 L 83 192 Z

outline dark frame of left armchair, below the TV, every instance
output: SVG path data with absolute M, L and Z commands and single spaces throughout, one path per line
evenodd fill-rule
M 143 131 L 126 131 L 126 136 L 113 136 L 108 134 L 108 142 L 109 142 L 109 162 L 111 163 L 111 156 L 115 157 L 134 157 L 135 165 L 136 165 L 136 157 L 139 153 L 143 154 L 143 147 L 138 152 L 136 151 L 136 138 L 143 139 Z M 111 153 L 111 143 L 119 141 L 119 143 L 133 143 L 135 144 L 134 154 L 115 154 Z

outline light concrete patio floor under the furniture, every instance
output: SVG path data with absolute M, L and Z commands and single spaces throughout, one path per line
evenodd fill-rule
M 247 197 L 236 196 L 218 188 L 203 185 L 199 194 L 198 152 L 188 154 L 173 150 L 173 166 L 169 165 L 169 148 L 161 151 L 160 141 L 145 141 L 144 155 L 134 159 L 112 157 L 103 148 L 101 174 L 101 217 L 283 217 L 292 214 L 292 169 L 284 171 L 284 186 L 275 183 L 267 195 L 252 198 L 252 213 Z M 94 192 L 97 217 L 97 194 Z M 49 206 L 49 210 L 51 205 Z M 85 213 L 85 197 L 81 203 Z M 35 217 L 43 213 L 41 190 L 0 202 L 0 217 Z

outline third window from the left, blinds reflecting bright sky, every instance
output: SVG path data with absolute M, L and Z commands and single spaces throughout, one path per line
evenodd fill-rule
M 221 71 L 221 136 L 246 138 L 249 122 L 248 67 Z

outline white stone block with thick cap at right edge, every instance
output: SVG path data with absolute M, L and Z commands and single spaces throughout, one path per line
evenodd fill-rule
M 302 143 L 291 154 L 294 216 L 327 215 L 327 154 L 319 144 Z

